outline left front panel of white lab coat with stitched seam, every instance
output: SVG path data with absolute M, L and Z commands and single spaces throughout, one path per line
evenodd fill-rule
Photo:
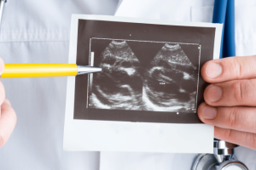
M 71 14 L 114 14 L 117 0 L 9 0 L 0 56 L 5 63 L 67 63 Z M 1 79 L 17 114 L 0 150 L 1 170 L 96 170 L 99 152 L 63 151 L 67 77 Z

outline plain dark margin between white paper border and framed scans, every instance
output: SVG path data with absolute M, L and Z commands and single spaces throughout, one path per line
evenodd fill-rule
M 201 45 L 200 66 L 202 66 L 205 62 L 213 58 L 214 36 L 215 28 L 207 27 L 162 26 L 101 20 L 79 20 L 77 65 L 89 65 L 90 38 L 101 37 L 139 41 L 198 43 Z M 127 43 L 129 46 L 131 45 L 130 47 L 132 48 L 132 44 Z M 191 47 L 193 46 L 181 45 L 184 53 L 188 55 L 194 65 L 196 59 L 191 59 L 191 54 L 195 54 L 195 48 Z M 198 46 L 196 45 L 195 47 L 197 48 Z M 141 48 L 150 47 L 142 45 Z M 98 49 L 97 51 L 100 50 Z M 136 51 L 133 52 L 137 55 Z M 156 53 L 154 53 L 154 55 Z M 150 54 L 148 57 L 149 56 Z M 196 58 L 198 59 L 198 56 L 196 56 Z M 147 60 L 147 58 L 143 59 Z M 195 64 L 195 66 L 198 66 L 198 64 Z M 177 115 L 177 112 L 87 109 L 87 82 L 87 75 L 76 77 L 74 119 L 125 122 L 202 123 L 197 113 L 192 111 L 191 113 L 179 112 Z M 204 82 L 200 76 L 197 105 L 200 105 L 201 102 L 204 101 L 203 92 L 206 87 L 207 82 Z

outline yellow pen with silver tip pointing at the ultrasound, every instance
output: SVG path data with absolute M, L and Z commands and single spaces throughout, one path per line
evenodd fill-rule
M 100 71 L 100 67 L 75 64 L 5 64 L 1 78 L 67 77 Z

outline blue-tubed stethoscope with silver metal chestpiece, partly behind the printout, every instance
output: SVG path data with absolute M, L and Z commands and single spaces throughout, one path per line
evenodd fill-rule
M 3 16 L 3 7 L 7 0 L 0 0 L 0 26 Z M 224 55 L 236 56 L 235 33 L 234 33 L 234 0 L 215 0 L 213 22 L 225 25 L 225 35 L 223 32 Z M 227 20 L 229 18 L 229 20 Z M 229 30 L 226 33 L 226 30 Z M 228 39 L 229 44 L 225 42 Z M 226 46 L 226 47 L 225 47 Z M 221 48 L 221 51 L 222 51 Z M 222 54 L 220 55 L 222 56 Z M 197 156 L 192 170 L 248 170 L 247 166 L 234 157 L 237 144 L 231 144 L 224 140 L 214 139 L 213 154 L 201 154 Z

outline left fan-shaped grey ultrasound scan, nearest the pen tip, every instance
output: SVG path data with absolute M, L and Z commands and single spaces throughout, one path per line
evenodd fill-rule
M 101 56 L 102 72 L 93 77 L 89 108 L 142 111 L 142 66 L 128 44 L 112 41 Z

